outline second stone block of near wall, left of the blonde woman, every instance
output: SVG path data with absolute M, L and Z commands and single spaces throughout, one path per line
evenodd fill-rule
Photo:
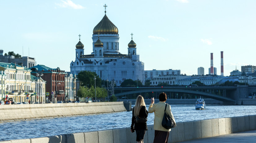
M 114 143 L 126 142 L 126 128 L 113 129 Z

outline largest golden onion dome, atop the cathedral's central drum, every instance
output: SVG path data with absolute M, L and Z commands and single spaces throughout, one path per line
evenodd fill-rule
M 93 34 L 118 34 L 117 27 L 105 16 L 102 20 L 94 27 Z

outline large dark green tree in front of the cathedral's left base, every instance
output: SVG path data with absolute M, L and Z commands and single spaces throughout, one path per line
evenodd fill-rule
M 96 76 L 96 87 L 101 87 L 102 79 L 95 72 L 80 71 L 77 78 L 79 79 L 81 86 L 91 88 L 91 86 L 94 86 L 94 76 Z

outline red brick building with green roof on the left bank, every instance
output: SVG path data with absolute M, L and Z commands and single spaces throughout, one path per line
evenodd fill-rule
M 31 74 L 37 76 L 37 73 L 41 71 L 43 76 L 41 78 L 46 81 L 46 93 L 49 93 L 46 98 L 49 101 L 66 101 L 65 93 L 65 71 L 49 68 L 44 65 L 37 65 L 29 68 L 32 70 Z

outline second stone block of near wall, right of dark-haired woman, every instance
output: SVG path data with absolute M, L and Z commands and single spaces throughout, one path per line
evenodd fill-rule
M 194 121 L 184 122 L 184 138 L 185 138 L 185 141 L 195 139 L 195 137 L 194 137 Z

